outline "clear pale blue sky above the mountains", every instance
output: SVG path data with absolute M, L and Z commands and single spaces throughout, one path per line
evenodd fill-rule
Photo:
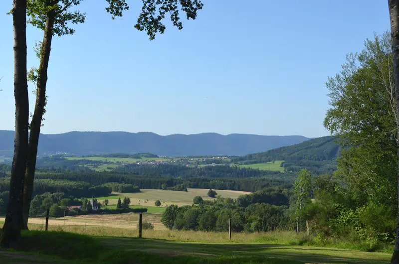
M 11 2 L 0 1 L 0 130 L 14 127 Z M 150 41 L 133 28 L 138 3 L 111 20 L 105 0 L 83 1 L 86 22 L 53 40 L 42 132 L 327 135 L 327 77 L 390 22 L 384 0 L 203 2 Z M 42 32 L 27 37 L 30 68 Z

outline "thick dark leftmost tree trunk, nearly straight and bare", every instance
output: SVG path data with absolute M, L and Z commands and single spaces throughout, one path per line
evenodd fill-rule
M 14 247 L 21 234 L 23 181 L 28 147 L 29 98 L 26 77 L 26 0 L 14 0 L 15 139 L 9 200 L 0 247 Z

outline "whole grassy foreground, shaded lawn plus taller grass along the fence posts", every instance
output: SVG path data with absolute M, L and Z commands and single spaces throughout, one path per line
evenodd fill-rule
M 41 225 L 29 228 L 42 230 Z M 227 234 L 217 232 L 144 230 L 144 238 L 138 239 L 137 230 L 121 228 L 49 226 L 49 230 L 24 232 L 17 252 L 0 252 L 1 263 L 384 264 L 391 257 L 304 246 L 305 236 L 294 232 L 238 233 L 229 241 Z

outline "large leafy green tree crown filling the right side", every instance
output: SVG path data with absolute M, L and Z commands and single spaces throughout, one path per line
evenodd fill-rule
M 396 203 L 396 95 L 390 35 L 365 41 L 329 78 L 331 108 L 324 121 L 343 151 L 336 176 L 356 206 Z

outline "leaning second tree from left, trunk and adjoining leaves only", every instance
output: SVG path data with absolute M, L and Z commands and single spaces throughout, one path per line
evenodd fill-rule
M 51 42 L 54 34 L 62 36 L 75 31 L 67 27 L 67 22 L 83 23 L 85 16 L 79 11 L 70 12 L 71 6 L 79 4 L 80 0 L 31 0 L 27 4 L 28 22 L 44 31 L 43 40 L 36 47 L 39 58 L 39 68 L 29 71 L 28 79 L 35 84 L 36 102 L 30 122 L 28 156 L 26 162 L 23 188 L 23 229 L 27 229 L 30 201 L 33 192 L 33 180 L 36 167 L 37 147 L 40 128 L 47 103 L 46 86 L 47 70 L 50 59 Z

